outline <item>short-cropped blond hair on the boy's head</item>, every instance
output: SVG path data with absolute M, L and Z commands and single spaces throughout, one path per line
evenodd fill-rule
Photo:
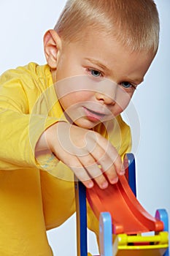
M 152 0 L 68 0 L 55 31 L 72 42 L 87 28 L 111 34 L 131 50 L 158 50 L 160 26 Z

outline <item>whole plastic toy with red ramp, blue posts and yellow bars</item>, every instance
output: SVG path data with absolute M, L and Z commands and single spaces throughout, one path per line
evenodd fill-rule
M 161 209 L 152 217 L 144 210 L 136 199 L 133 154 L 125 155 L 124 165 L 125 176 L 107 189 L 75 182 L 78 256 L 88 255 L 86 197 L 99 220 L 101 256 L 169 256 L 168 214 Z M 150 231 L 152 236 L 143 235 Z

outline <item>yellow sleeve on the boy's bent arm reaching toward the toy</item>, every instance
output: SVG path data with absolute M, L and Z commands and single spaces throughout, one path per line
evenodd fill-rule
M 36 81 L 31 80 L 30 75 L 24 77 L 25 80 L 21 77 L 24 73 L 20 74 L 20 71 L 8 71 L 0 77 L 1 170 L 43 169 L 36 162 L 34 148 L 42 132 L 58 121 L 58 118 L 48 116 L 48 111 L 39 114 L 39 106 L 34 111 L 42 91 L 37 89 Z

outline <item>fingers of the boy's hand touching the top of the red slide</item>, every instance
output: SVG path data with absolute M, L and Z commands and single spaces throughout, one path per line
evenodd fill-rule
M 87 188 L 93 187 L 95 181 L 98 187 L 106 189 L 108 183 L 117 183 L 118 175 L 124 174 L 120 156 L 112 145 L 107 145 L 106 150 L 96 144 L 91 152 L 81 151 L 81 154 L 75 154 L 69 160 L 69 167 Z

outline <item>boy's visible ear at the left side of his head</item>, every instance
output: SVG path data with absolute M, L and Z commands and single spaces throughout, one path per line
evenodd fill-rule
M 61 38 L 53 29 L 48 30 L 44 36 L 44 50 L 47 64 L 56 69 L 61 53 Z

